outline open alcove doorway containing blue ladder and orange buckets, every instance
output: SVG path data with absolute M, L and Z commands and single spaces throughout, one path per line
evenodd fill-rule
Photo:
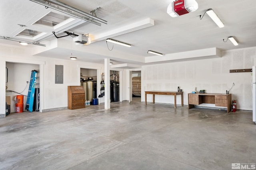
M 34 84 L 30 86 L 32 71 L 36 71 Z M 28 63 L 6 62 L 6 104 L 9 105 L 10 113 L 22 113 L 26 111 L 26 103 L 29 88 L 34 88 L 32 111 L 40 111 L 40 65 Z M 30 98 L 32 99 L 32 98 Z M 30 100 L 31 101 L 31 100 Z M 31 105 L 30 105 L 31 106 Z

